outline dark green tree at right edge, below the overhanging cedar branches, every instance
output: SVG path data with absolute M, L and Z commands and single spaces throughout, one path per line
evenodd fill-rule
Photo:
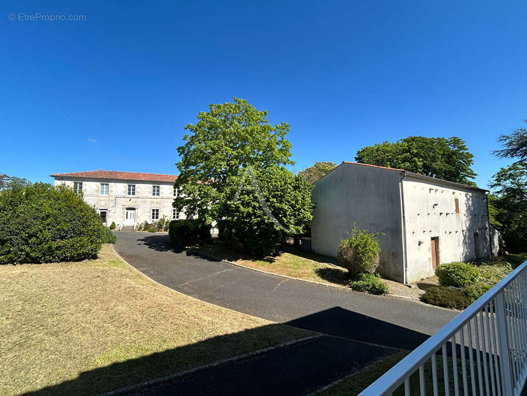
M 493 176 L 491 188 L 496 228 L 503 234 L 505 249 L 512 253 L 527 251 L 527 163 L 501 168 Z

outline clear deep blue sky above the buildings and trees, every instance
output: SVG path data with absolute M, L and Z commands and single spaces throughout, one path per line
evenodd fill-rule
M 527 118 L 524 1 L 11 3 L 0 173 L 32 181 L 177 174 L 183 127 L 236 96 L 291 125 L 291 169 L 460 136 L 486 186 L 510 162 L 497 136 Z M 18 20 L 36 13 L 85 21 Z

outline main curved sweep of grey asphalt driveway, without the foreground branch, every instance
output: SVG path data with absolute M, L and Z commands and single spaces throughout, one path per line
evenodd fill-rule
M 123 231 L 115 250 L 143 274 L 180 293 L 350 340 L 413 349 L 457 314 L 204 259 L 174 248 L 167 234 Z

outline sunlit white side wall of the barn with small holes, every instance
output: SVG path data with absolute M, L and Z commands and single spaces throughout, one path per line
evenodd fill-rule
M 409 281 L 434 274 L 434 237 L 439 245 L 437 264 L 490 257 L 489 218 L 483 191 L 407 176 L 403 193 Z M 475 239 L 479 241 L 477 246 Z

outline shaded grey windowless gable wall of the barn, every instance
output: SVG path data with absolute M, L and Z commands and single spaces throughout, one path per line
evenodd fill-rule
M 341 239 L 357 223 L 384 232 L 379 272 L 404 282 L 401 174 L 394 169 L 343 163 L 314 185 L 317 207 L 311 222 L 313 251 L 335 257 Z

